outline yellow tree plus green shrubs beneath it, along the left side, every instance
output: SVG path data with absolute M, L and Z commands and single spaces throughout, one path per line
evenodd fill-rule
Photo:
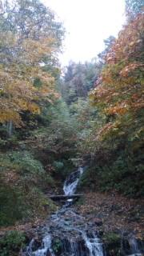
M 44 193 L 55 187 L 50 150 L 57 134 L 45 138 L 59 97 L 57 55 L 64 29 L 38 0 L 1 1 L 0 25 L 0 225 L 8 226 L 55 209 Z M 45 154 L 51 157 L 47 162 Z

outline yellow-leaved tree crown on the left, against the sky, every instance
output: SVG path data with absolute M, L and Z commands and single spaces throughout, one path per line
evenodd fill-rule
M 1 2 L 0 13 L 0 122 L 19 126 L 22 111 L 38 114 L 41 99 L 58 98 L 44 66 L 56 62 L 63 29 L 38 0 Z

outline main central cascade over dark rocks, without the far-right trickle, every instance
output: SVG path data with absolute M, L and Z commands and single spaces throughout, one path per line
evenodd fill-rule
M 64 182 L 63 190 L 66 195 L 76 192 L 78 180 L 85 168 L 78 168 Z M 69 199 L 71 202 L 73 199 Z M 45 228 L 45 235 L 42 242 L 35 246 L 34 239 L 26 248 L 25 256 L 104 256 L 102 241 L 93 232 L 89 232 L 89 226 L 84 217 L 75 213 L 70 207 L 69 202 L 62 206 L 51 216 L 50 224 Z M 54 239 L 61 241 L 62 251 L 54 251 Z M 59 239 L 59 240 L 58 240 Z

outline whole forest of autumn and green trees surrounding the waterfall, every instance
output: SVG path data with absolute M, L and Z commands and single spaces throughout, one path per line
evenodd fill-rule
M 62 70 L 66 30 L 53 11 L 39 0 L 0 1 L 1 256 L 22 255 L 15 226 L 53 214 L 46 194 L 62 194 L 79 166 L 78 193 L 142 200 L 143 27 L 143 1 L 126 0 L 118 38 Z

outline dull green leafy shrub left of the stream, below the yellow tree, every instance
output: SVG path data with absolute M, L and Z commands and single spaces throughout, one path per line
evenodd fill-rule
M 0 226 L 14 225 L 19 219 L 30 220 L 54 212 L 42 190 L 54 186 L 54 179 L 29 151 L 1 154 Z

